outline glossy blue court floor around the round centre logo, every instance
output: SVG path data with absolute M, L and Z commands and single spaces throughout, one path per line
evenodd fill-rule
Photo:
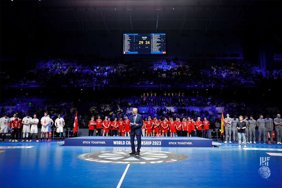
M 0 143 L 0 147 L 11 146 L 33 147 L 0 148 L 1 187 L 118 187 L 127 167 L 120 187 L 257 188 L 281 187 L 282 183 L 282 145 L 277 144 L 247 144 L 247 150 L 238 148 L 238 144 L 224 143 L 220 148 L 143 147 L 141 150 L 151 153 L 174 152 L 188 158 L 129 166 L 85 161 L 77 157 L 89 152 L 131 150 L 128 147 L 58 146 L 55 140 L 49 143 L 36 143 L 35 140 L 32 143 L 10 143 L 5 140 L 5 143 Z M 260 157 L 269 157 L 267 168 L 271 172 L 264 174 L 268 178 L 259 174 L 262 172 L 259 171 L 262 167 Z

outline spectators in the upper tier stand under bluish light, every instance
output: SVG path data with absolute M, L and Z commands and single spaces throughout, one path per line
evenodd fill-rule
M 154 84 L 265 84 L 281 81 L 281 70 L 260 69 L 242 59 L 166 60 L 170 69 L 140 60 L 123 58 L 91 58 L 73 60 L 41 60 L 26 71 L 12 69 L 0 72 L 2 84 L 137 84 L 143 80 Z

